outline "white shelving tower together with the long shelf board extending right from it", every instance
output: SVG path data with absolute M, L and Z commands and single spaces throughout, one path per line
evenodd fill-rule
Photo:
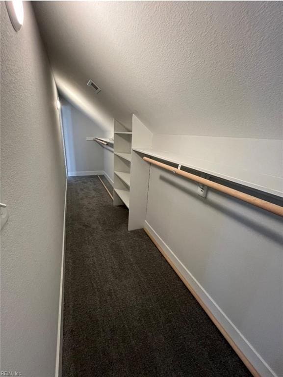
M 172 152 L 169 151 L 171 145 L 169 150 L 160 150 L 155 144 L 153 134 L 135 115 L 130 129 L 114 122 L 114 206 L 125 204 L 129 209 L 129 230 L 143 228 L 146 219 L 151 164 L 143 160 L 144 156 L 176 164 L 182 169 L 193 169 L 208 177 L 224 179 L 258 192 L 283 196 L 281 176 L 248 167 L 245 169 L 240 164 L 227 161 L 192 157 L 190 151 L 180 148 L 179 152 L 178 148 L 174 148 L 175 144 L 172 145 Z M 246 146 L 243 148 L 245 151 Z

